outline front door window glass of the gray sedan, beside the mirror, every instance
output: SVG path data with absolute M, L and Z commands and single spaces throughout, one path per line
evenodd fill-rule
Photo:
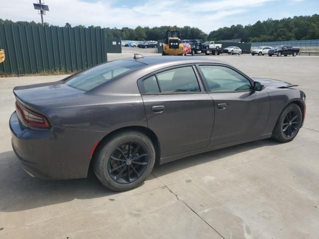
M 199 66 L 209 91 L 244 91 L 251 89 L 250 81 L 238 72 L 224 66 Z

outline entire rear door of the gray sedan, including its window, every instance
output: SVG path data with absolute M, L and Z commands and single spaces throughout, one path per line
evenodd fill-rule
M 212 98 L 196 68 L 179 66 L 139 80 L 148 126 L 167 157 L 208 146 L 214 121 Z

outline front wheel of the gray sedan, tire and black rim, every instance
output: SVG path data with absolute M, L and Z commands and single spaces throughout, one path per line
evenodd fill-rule
M 288 105 L 277 120 L 272 138 L 284 143 L 292 141 L 299 132 L 302 120 L 299 106 L 296 104 Z

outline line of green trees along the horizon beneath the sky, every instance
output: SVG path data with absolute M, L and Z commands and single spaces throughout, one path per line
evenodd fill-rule
M 34 21 L 17 21 L 0 19 L 0 24 L 19 24 L 19 25 L 41 25 Z M 45 22 L 45 26 L 53 26 Z M 65 23 L 64 27 L 71 27 L 70 23 Z M 76 25 L 81 28 L 101 28 L 101 26 Z M 121 38 L 122 40 L 158 40 L 163 39 L 163 34 L 168 26 L 160 27 L 142 27 L 136 28 L 104 28 L 108 37 Z M 228 40 L 240 38 L 242 42 L 259 41 L 289 41 L 289 40 L 311 40 L 319 39 L 319 15 L 312 16 L 294 16 L 273 20 L 269 18 L 265 21 L 257 21 L 255 24 L 232 25 L 230 27 L 221 27 L 206 34 L 197 27 L 173 26 L 173 29 L 179 30 L 181 39 L 203 39 L 208 40 Z

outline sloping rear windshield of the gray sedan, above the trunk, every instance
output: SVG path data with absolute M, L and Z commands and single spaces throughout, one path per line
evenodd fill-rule
M 83 71 L 71 77 L 65 84 L 82 90 L 89 91 L 102 85 L 113 78 L 120 76 L 126 72 L 145 66 L 145 64 L 137 61 L 119 60 L 113 61 L 99 66 L 95 66 L 89 70 Z

